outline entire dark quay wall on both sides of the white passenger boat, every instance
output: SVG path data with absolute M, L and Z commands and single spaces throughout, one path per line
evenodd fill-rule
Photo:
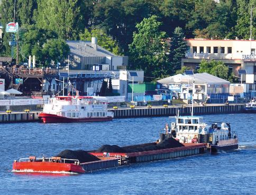
M 194 107 L 194 115 L 202 114 L 227 114 L 242 113 L 244 105 L 209 105 Z M 135 109 L 118 109 L 111 110 L 114 112 L 114 118 L 134 118 L 134 117 L 150 117 L 150 116 L 175 116 L 179 111 L 179 115 L 190 115 L 191 108 L 168 107 L 168 108 L 135 108 Z M 35 112 L 13 112 L 0 113 L 0 123 L 11 122 L 34 122 L 39 121 L 39 111 Z

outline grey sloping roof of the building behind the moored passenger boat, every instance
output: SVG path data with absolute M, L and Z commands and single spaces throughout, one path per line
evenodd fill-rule
M 105 50 L 105 48 L 97 45 L 97 50 L 93 48 L 90 41 L 66 41 L 70 47 L 70 53 L 74 53 L 83 57 L 106 57 L 116 56 L 112 52 Z

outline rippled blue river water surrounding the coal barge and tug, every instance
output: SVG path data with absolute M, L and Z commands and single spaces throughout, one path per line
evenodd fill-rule
M 102 144 L 153 142 L 164 124 L 174 119 L 0 124 L 0 194 L 255 194 L 256 115 L 205 115 L 204 119 L 231 122 L 239 135 L 239 150 L 71 176 L 13 173 L 12 162 L 29 155 L 51 156 L 65 149 L 92 150 Z

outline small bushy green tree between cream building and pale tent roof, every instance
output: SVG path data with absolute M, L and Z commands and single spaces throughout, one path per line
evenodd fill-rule
M 228 67 L 221 61 L 207 62 L 206 60 L 202 60 L 200 65 L 199 73 L 208 73 L 214 76 L 220 77 L 221 79 L 230 81 L 231 83 L 237 82 L 237 78 L 235 77 L 232 71 L 228 70 Z

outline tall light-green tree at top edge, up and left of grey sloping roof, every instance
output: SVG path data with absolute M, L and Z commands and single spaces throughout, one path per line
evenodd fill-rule
M 83 14 L 80 13 L 82 4 L 82 0 L 39 0 L 36 25 L 57 32 L 59 38 L 76 39 L 85 27 Z

